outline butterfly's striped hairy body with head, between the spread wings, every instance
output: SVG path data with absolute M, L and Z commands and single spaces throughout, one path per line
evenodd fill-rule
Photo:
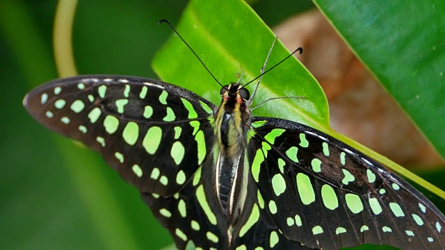
M 248 183 L 245 149 L 251 113 L 246 104 L 246 93 L 247 90 L 238 83 L 225 86 L 215 117 L 215 188 L 220 206 L 232 225 L 243 210 Z

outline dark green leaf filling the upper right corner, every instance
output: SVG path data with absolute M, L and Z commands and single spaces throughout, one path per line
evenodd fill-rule
M 445 158 L 445 1 L 315 2 Z

